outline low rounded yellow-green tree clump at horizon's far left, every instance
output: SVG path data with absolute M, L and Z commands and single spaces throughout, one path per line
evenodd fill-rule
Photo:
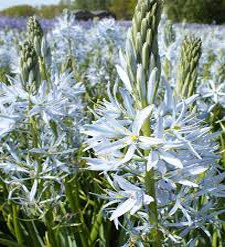
M 1 14 L 13 17 L 32 16 L 37 14 L 37 9 L 30 5 L 18 5 L 3 10 Z

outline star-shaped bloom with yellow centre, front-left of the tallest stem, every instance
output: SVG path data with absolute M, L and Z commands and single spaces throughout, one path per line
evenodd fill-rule
M 162 143 L 162 140 L 152 137 L 144 137 L 141 135 L 141 128 L 153 110 L 153 106 L 150 105 L 145 109 L 138 111 L 134 117 L 134 121 L 130 124 L 130 121 L 121 121 L 119 119 L 113 119 L 103 117 L 99 119 L 93 125 L 86 125 L 84 133 L 93 138 L 87 141 L 90 144 L 89 148 L 93 148 L 95 152 L 101 157 L 100 159 L 88 159 L 89 165 L 98 170 L 98 165 L 101 159 L 105 159 L 110 154 L 119 155 L 121 150 L 127 148 L 124 157 L 115 159 L 116 166 L 120 166 L 126 162 L 129 162 L 135 151 L 145 144 L 149 146 L 155 146 Z M 113 141 L 115 140 L 115 141 Z M 114 156 L 114 157 L 115 157 Z M 95 167 L 96 162 L 96 167 Z M 104 162 L 104 161 L 103 161 Z M 106 161 L 107 163 L 107 161 Z M 113 164 L 106 165 L 106 170 L 111 170 L 110 166 L 116 167 Z M 102 169 L 102 167 L 100 167 Z

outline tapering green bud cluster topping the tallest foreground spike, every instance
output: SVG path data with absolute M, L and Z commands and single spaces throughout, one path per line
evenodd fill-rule
M 131 31 L 128 35 L 129 43 L 133 44 L 132 53 L 135 54 L 135 56 L 131 57 L 126 50 L 125 59 L 127 62 L 127 73 L 129 76 L 132 75 L 130 81 L 136 78 L 136 82 L 134 81 L 133 84 L 140 84 L 144 89 L 148 87 L 148 81 L 145 80 L 144 83 L 143 81 L 140 83 L 140 68 L 142 69 L 143 78 L 149 78 L 151 69 L 157 67 L 156 88 L 159 83 L 161 64 L 157 35 L 161 9 L 161 0 L 139 0 L 132 20 Z M 139 64 L 141 64 L 141 67 Z M 137 85 L 136 88 L 139 88 L 139 85 Z M 140 91 L 143 92 L 143 90 L 139 89 L 139 92 Z M 147 99 L 143 98 L 145 96 L 144 93 L 138 94 L 138 97 L 141 97 L 139 101 L 142 102 L 142 106 L 147 102 Z

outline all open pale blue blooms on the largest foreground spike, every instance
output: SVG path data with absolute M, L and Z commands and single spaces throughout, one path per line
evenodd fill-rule
M 120 89 L 120 103 L 116 88 L 113 95 L 108 91 L 109 101 L 104 100 L 95 111 L 97 120 L 84 127 L 89 136 L 87 149 L 93 149 L 96 156 L 86 158 L 89 169 L 104 172 L 115 190 L 106 190 L 107 196 L 100 196 L 110 200 L 104 209 L 111 213 L 110 219 L 116 226 L 122 215 L 131 220 L 134 215 L 139 218 L 140 213 L 148 214 L 145 206 L 154 198 L 146 194 L 143 178 L 146 170 L 154 170 L 160 231 L 172 241 L 180 241 L 179 236 L 168 230 L 170 224 L 179 229 L 189 227 L 191 231 L 194 226 L 203 227 L 206 223 L 203 220 L 196 223 L 198 216 L 194 212 L 199 212 L 192 204 L 204 193 L 207 176 L 216 181 L 218 133 L 210 133 L 211 128 L 193 107 L 198 95 L 179 100 L 165 82 L 161 103 L 139 110 L 127 89 Z M 151 126 L 149 136 L 143 134 L 146 122 Z M 215 184 L 211 188 L 214 191 Z M 224 186 L 219 188 L 218 194 L 207 189 L 207 203 L 213 203 L 224 193 Z M 217 214 L 211 216 L 214 221 Z M 176 223 L 173 218 L 178 219 Z M 148 222 L 148 229 L 152 228 L 154 225 Z

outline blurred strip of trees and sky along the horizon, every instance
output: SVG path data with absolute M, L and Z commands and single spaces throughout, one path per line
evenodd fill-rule
M 0 0 L 0 15 L 21 17 L 38 15 L 52 19 L 63 9 L 82 11 L 89 19 L 97 12 L 111 15 L 118 20 L 132 17 L 137 0 Z M 225 23 L 225 0 L 165 0 L 165 12 L 175 22 Z M 89 12 L 89 13 L 88 13 Z M 98 14 L 98 13 L 97 13 Z

